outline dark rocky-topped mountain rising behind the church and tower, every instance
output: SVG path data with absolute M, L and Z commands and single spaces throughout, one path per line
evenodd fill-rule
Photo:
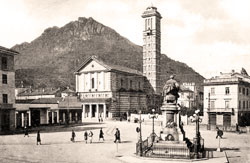
M 65 26 L 46 29 L 30 43 L 12 47 L 16 56 L 16 86 L 75 87 L 74 71 L 95 55 L 105 62 L 142 71 L 142 47 L 93 18 L 80 17 Z M 184 63 L 161 58 L 163 81 L 176 74 L 180 82 L 202 82 L 203 77 Z

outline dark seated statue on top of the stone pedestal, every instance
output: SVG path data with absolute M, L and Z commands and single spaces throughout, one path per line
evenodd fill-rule
M 179 83 L 174 79 L 174 75 L 170 76 L 170 79 L 166 81 L 163 87 L 164 102 L 167 104 L 177 104 L 179 98 Z

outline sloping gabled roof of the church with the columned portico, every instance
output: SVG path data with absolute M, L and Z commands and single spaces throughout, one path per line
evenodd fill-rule
M 100 58 L 97 58 L 96 56 L 92 56 L 92 57 L 86 59 L 76 69 L 76 73 L 79 72 L 80 70 L 82 70 L 92 60 L 98 62 L 99 64 L 101 64 L 102 66 L 104 66 L 105 68 L 107 68 L 109 71 L 119 71 L 119 72 L 125 72 L 125 73 L 135 74 L 135 75 L 143 75 L 142 72 L 140 72 L 138 70 L 131 69 L 131 68 L 128 68 L 128 67 L 123 67 L 123 66 L 120 66 L 120 65 L 114 65 L 114 64 L 111 64 L 111 63 L 107 63 L 107 62 L 101 60 Z

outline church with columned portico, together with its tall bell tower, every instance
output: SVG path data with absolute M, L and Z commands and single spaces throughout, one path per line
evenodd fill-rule
M 82 102 L 82 120 L 88 118 L 126 118 L 130 113 L 161 105 L 161 15 L 156 7 L 142 14 L 143 72 L 106 63 L 95 56 L 75 72 L 76 92 Z

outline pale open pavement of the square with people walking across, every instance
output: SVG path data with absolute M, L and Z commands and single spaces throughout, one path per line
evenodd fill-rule
M 136 127 L 138 124 L 128 122 L 111 122 L 105 124 L 93 124 L 88 126 L 74 127 L 76 130 L 76 142 L 70 141 L 71 132 L 41 132 L 42 145 L 36 145 L 36 134 L 30 137 L 23 135 L 0 136 L 0 162 L 6 163 L 119 163 L 119 162 L 152 162 L 135 157 L 135 143 L 138 135 Z M 104 131 L 105 141 L 98 140 L 99 128 Z M 84 129 L 93 128 L 93 143 L 83 141 Z M 122 143 L 115 144 L 115 128 L 121 131 Z M 151 133 L 152 126 L 142 125 L 143 139 Z M 159 133 L 160 127 L 155 127 Z M 195 127 L 185 126 L 186 136 L 194 137 Z M 205 139 L 205 147 L 217 148 L 218 139 L 215 139 L 215 131 L 201 130 Z M 226 151 L 230 162 L 250 162 L 250 135 L 224 133 L 221 139 L 221 148 Z M 212 160 L 212 159 L 211 159 Z M 171 160 L 170 160 L 171 161 Z M 167 162 L 167 161 L 165 161 Z M 178 162 L 178 161 L 177 161 Z M 213 160 L 213 162 L 216 162 Z

